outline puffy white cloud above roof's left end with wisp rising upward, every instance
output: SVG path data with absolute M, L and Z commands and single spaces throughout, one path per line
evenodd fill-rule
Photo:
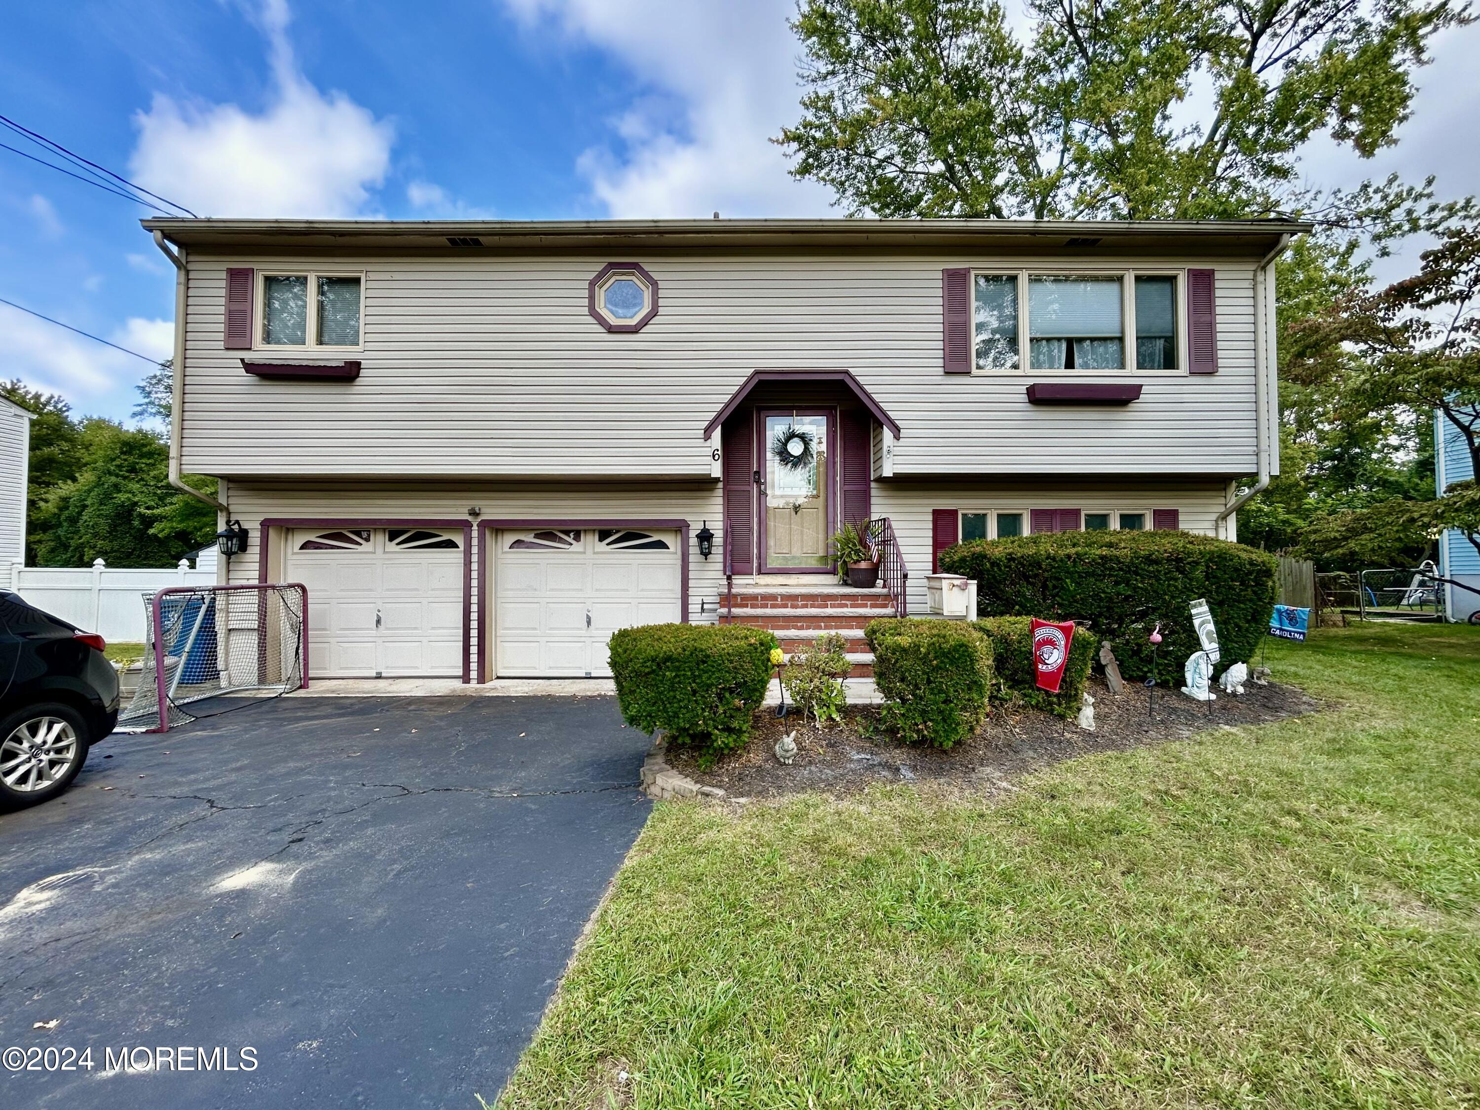
M 299 71 L 286 0 L 265 0 L 272 98 L 262 112 L 235 104 L 181 104 L 155 95 L 135 115 L 129 160 L 145 188 L 201 216 L 364 215 L 385 181 L 395 129 L 342 92 L 321 93 Z

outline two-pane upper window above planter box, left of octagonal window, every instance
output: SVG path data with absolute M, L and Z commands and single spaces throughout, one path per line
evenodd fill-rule
M 262 271 L 256 346 L 268 351 L 354 351 L 363 343 L 363 272 Z

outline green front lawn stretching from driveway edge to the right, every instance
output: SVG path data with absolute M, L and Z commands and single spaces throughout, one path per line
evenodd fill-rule
M 499 1106 L 1476 1106 L 1480 629 L 1270 662 L 1342 707 L 998 802 L 659 805 Z

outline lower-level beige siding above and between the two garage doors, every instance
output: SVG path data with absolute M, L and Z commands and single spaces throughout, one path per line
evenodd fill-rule
M 380 519 L 380 518 L 437 518 L 468 519 L 468 509 L 481 509 L 480 519 L 687 519 L 690 521 L 688 543 L 688 619 L 693 623 L 713 623 L 724 592 L 724 555 L 719 543 L 709 559 L 699 558 L 694 533 L 707 519 L 709 527 L 719 533 L 719 485 L 718 482 L 665 482 L 662 485 L 565 485 L 527 484 L 519 487 L 490 485 L 263 485 L 255 482 L 231 484 L 231 515 L 252 530 L 252 546 L 246 555 L 231 559 L 229 582 L 256 582 L 260 522 L 263 518 L 315 518 L 315 519 Z M 477 524 L 477 521 L 475 521 Z M 271 539 L 268 549 L 268 577 L 281 580 L 284 530 Z M 469 669 L 477 679 L 478 636 L 481 613 L 477 604 L 478 543 L 482 534 L 474 528 L 472 577 L 474 591 L 472 639 Z M 493 561 L 488 565 L 488 598 L 493 596 Z M 312 605 L 312 598 L 309 598 Z M 493 659 L 493 645 L 487 657 Z

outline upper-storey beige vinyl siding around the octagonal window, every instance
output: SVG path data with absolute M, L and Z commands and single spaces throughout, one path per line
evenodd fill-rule
M 641 262 L 660 312 L 602 330 L 586 283 Z M 184 466 L 216 475 L 704 477 L 703 426 L 761 367 L 847 367 L 901 425 L 895 477 L 1246 474 L 1255 468 L 1252 262 L 1217 263 L 1214 376 L 941 371 L 941 269 L 990 256 L 213 258 L 189 262 Z M 1074 269 L 1083 256 L 1073 256 Z M 1200 265 L 1137 259 L 1138 269 Z M 366 272 L 363 376 L 247 376 L 222 348 L 228 265 Z M 1066 258 L 1014 258 L 1052 272 Z M 1107 268 L 1123 268 L 1106 260 Z M 1123 263 L 1129 265 L 1129 263 Z M 259 309 L 260 312 L 260 309 Z M 260 321 L 258 321 L 260 323 Z M 1033 380 L 1144 383 L 1126 407 L 1039 407 Z

